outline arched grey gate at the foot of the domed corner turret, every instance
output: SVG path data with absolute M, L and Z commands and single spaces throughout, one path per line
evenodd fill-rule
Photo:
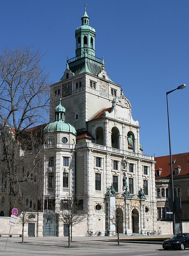
M 43 237 L 57 236 L 57 215 L 52 210 L 43 214 Z

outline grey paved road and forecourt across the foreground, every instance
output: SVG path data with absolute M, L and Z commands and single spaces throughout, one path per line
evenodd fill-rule
M 189 256 L 189 250 L 164 251 L 161 245 L 117 242 L 115 237 L 74 237 L 68 248 L 68 237 L 0 238 L 0 256 Z

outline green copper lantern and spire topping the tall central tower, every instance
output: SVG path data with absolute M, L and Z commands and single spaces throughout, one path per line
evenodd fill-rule
M 89 26 L 89 17 L 85 11 L 81 17 L 81 26 L 76 28 L 76 57 L 95 56 L 95 29 Z

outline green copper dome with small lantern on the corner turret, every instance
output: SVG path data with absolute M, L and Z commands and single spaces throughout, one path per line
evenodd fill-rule
M 61 103 L 55 107 L 55 122 L 49 123 L 44 128 L 43 133 L 62 132 L 76 134 L 75 127 L 69 123 L 65 123 L 65 112 L 66 109 L 61 105 Z

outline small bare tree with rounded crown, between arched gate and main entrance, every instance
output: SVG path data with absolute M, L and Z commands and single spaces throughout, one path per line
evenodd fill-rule
M 84 221 L 86 216 L 82 212 L 83 207 L 80 204 L 80 200 L 74 201 L 73 199 L 69 199 L 66 203 L 62 203 L 60 205 L 60 209 L 60 220 L 65 226 L 68 227 L 68 247 L 70 247 L 72 227 Z

